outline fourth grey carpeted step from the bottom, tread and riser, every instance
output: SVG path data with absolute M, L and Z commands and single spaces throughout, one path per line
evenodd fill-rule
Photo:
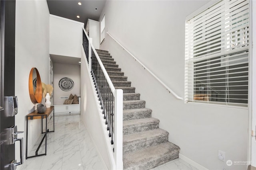
M 151 117 L 152 110 L 148 108 L 123 110 L 123 121 L 144 119 Z

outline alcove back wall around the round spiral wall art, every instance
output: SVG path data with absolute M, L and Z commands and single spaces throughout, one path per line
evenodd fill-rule
M 80 45 L 81 48 L 81 45 Z M 65 99 L 60 96 L 80 96 L 80 65 L 54 63 L 54 105 L 63 104 Z M 60 79 L 68 77 L 74 82 L 74 88 L 70 91 L 63 91 L 59 87 Z

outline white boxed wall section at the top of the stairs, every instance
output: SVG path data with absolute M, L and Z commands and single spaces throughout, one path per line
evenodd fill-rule
M 88 19 L 86 28 L 88 36 L 92 38 L 92 45 L 95 49 L 100 48 L 100 22 Z

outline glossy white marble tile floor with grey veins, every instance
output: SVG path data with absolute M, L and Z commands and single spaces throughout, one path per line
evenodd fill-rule
M 49 129 L 53 125 L 51 119 Z M 43 135 L 42 135 L 43 136 Z M 28 156 L 35 154 L 41 139 Z M 45 152 L 42 143 L 38 154 Z M 48 133 L 47 155 L 28 158 L 20 170 L 104 170 L 90 135 L 80 115 L 55 116 L 55 132 Z M 152 170 L 197 170 L 180 158 L 162 164 Z

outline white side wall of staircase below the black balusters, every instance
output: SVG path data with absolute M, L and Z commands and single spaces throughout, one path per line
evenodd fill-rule
M 86 61 L 87 62 L 87 61 Z M 86 62 L 84 57 L 81 58 L 81 111 L 80 114 L 86 125 L 86 129 L 90 133 L 92 141 L 95 144 L 96 149 L 100 155 L 102 162 L 106 166 L 104 169 L 112 169 L 110 156 L 107 148 L 110 141 L 106 141 L 107 136 L 106 128 L 103 130 L 102 125 L 104 124 L 104 119 L 102 120 L 99 113 L 99 106 L 95 99 L 95 88 L 91 84 L 92 77 L 90 72 L 88 72 Z

